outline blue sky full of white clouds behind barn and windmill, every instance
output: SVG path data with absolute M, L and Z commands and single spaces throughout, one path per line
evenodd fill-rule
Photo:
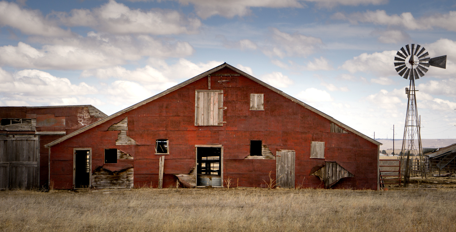
M 0 1 L 0 106 L 111 115 L 227 62 L 375 138 L 402 139 L 401 47 L 447 55 L 415 81 L 421 138 L 456 138 L 453 0 Z M 397 62 L 397 61 L 396 61 Z

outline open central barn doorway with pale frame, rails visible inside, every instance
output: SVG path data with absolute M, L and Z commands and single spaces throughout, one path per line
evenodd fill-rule
M 223 146 L 197 145 L 197 186 L 223 187 Z

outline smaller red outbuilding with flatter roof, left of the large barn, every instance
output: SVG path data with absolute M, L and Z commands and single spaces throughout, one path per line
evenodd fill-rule
M 43 146 L 106 116 L 90 105 L 0 107 L 0 189 L 46 187 Z

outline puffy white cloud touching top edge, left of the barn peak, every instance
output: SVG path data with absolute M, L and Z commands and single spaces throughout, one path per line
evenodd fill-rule
M 114 0 L 92 10 L 73 9 L 69 14 L 56 14 L 65 25 L 89 26 L 114 34 L 188 34 L 195 33 L 201 26 L 200 20 L 187 18 L 175 10 L 130 9 Z

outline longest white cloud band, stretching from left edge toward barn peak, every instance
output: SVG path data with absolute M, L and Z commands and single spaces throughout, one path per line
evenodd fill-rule
M 0 47 L 0 65 L 37 69 L 94 69 L 140 60 L 143 56 L 191 55 L 187 42 L 156 40 L 149 35 L 112 36 L 89 32 L 85 38 L 55 39 L 36 49 L 19 42 Z

